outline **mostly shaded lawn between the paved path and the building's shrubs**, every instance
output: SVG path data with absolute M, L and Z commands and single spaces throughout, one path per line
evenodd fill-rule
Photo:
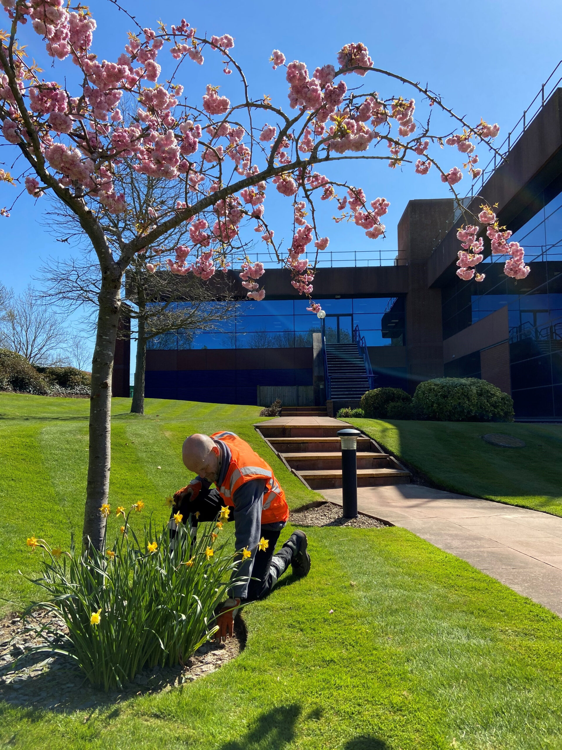
M 562 516 L 562 425 L 350 421 L 443 489 Z M 492 446 L 490 432 L 526 447 Z

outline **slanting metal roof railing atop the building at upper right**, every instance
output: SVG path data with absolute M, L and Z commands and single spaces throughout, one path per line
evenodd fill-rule
M 494 153 L 492 158 L 483 168 L 480 177 L 477 178 L 477 180 L 473 180 L 471 182 L 471 189 L 468 193 L 466 193 L 465 197 L 462 198 L 463 205 L 469 205 L 474 199 L 474 196 L 479 195 L 483 191 L 486 181 L 488 181 L 489 178 L 494 174 L 498 166 L 501 166 L 501 164 L 507 160 L 507 157 L 509 156 L 513 146 L 516 145 L 516 142 L 519 141 L 519 139 L 525 133 L 525 130 L 527 130 L 534 118 L 536 118 L 537 115 L 543 110 L 543 107 L 545 106 L 547 101 L 549 101 L 549 98 L 551 98 L 556 89 L 558 89 L 558 85 L 562 82 L 562 70 L 560 70 L 561 66 L 562 60 L 558 63 L 554 71 L 552 71 L 552 73 L 546 79 L 545 83 L 543 83 L 543 86 L 540 87 L 537 95 L 535 95 L 535 98 L 533 99 L 533 101 L 531 101 L 531 104 L 529 104 L 526 110 L 523 110 L 523 114 L 516 122 L 515 126 L 510 130 L 510 132 L 507 133 L 507 138 L 504 140 L 504 142 L 501 145 L 496 146 L 496 151 L 498 151 L 500 154 L 499 157 L 498 153 Z M 435 236 L 433 240 L 434 250 L 450 231 L 451 227 L 454 226 L 459 220 L 460 214 L 461 211 L 457 206 L 455 208 L 453 218 L 447 221 L 442 229 L 440 229 L 438 235 Z

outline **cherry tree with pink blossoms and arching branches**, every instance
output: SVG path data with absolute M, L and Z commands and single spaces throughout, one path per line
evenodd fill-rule
M 320 305 L 312 302 L 316 260 L 307 260 L 307 248 L 315 248 L 317 259 L 329 240 L 318 228 L 315 197 L 335 201 L 336 222 L 351 220 L 373 240 L 384 235 L 381 219 L 389 207 L 383 197 L 369 199 L 360 186 L 325 173 L 330 164 L 349 163 L 350 174 L 357 159 L 384 161 L 392 169 L 412 166 L 420 175 L 433 167 L 458 200 L 455 186 L 463 175 L 471 179 L 481 173 L 475 166 L 476 146 L 493 148 L 490 142 L 499 128 L 485 121 L 471 125 L 426 87 L 377 68 L 362 43 L 346 44 L 337 52 L 336 65 L 328 62 L 312 75 L 304 62 L 287 63 L 285 55 L 274 50 L 273 68 L 288 83 L 285 111 L 267 96 L 250 96 L 229 34 L 201 37 L 185 20 L 170 28 L 162 23 L 157 29 L 141 28 L 130 17 L 136 26 L 124 50 L 115 62 L 100 61 L 92 47 L 96 23 L 86 7 L 65 7 L 63 0 L 1 4 L 10 20 L 0 36 L 1 132 L 26 164 L 16 181 L 23 181 L 35 199 L 48 193 L 76 217 L 100 266 L 83 529 L 85 543 L 99 547 L 105 524 L 100 508 L 109 490 L 110 395 L 121 286 L 133 259 L 161 249 L 161 263 L 172 274 L 208 280 L 226 267 L 243 227 L 253 224 L 274 257 L 290 269 L 294 288 L 309 298 L 309 310 L 318 312 Z M 54 73 L 49 73 L 51 80 L 41 77 L 28 56 L 33 44 L 24 48 L 19 43 L 25 23 L 31 23 L 37 42 L 46 47 L 53 70 L 61 67 L 57 81 L 52 80 Z M 158 59 L 166 49 L 175 71 L 159 83 Z M 180 77 L 185 65 L 203 65 L 207 51 L 220 58 L 224 75 L 234 72 L 238 77 L 236 102 L 221 95 L 214 68 L 201 98 L 191 91 L 189 100 L 184 96 Z M 67 65 L 76 68 L 67 71 Z M 372 76 L 420 97 L 423 120 L 414 119 L 414 98 L 392 91 L 381 96 L 369 89 Z M 79 83 L 69 90 L 68 80 Z M 432 130 L 435 110 L 450 116 L 449 132 Z M 440 153 L 444 143 L 465 154 L 462 167 L 439 166 L 434 152 Z M 131 173 L 139 179 L 174 181 L 181 198 L 151 206 L 139 216 L 123 188 Z M 2 171 L 0 178 L 14 182 L 9 172 Z M 276 190 L 291 203 L 294 231 L 286 250 L 277 244 L 265 217 L 267 190 Z M 477 217 L 468 216 L 458 202 L 470 222 L 459 232 L 459 276 L 468 279 L 482 260 L 481 229 Z M 507 242 L 509 233 L 498 226 L 492 209 L 485 207 L 483 213 L 478 220 L 488 227 L 493 252 L 510 255 L 506 272 L 522 278 L 528 273 L 523 251 Z M 174 245 L 174 253 L 165 257 L 163 248 L 172 246 L 167 238 L 181 225 L 188 227 L 189 242 Z M 146 268 L 154 272 L 155 265 L 147 263 Z M 264 298 L 259 284 L 263 273 L 260 263 L 243 264 L 241 278 L 250 299 Z

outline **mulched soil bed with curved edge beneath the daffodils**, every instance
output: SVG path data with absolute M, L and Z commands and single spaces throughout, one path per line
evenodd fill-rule
M 35 610 L 25 622 L 16 616 L 0 620 L 0 700 L 16 706 L 46 708 L 58 712 L 91 709 L 128 700 L 135 695 L 168 691 L 193 682 L 219 669 L 238 656 L 246 645 L 247 630 L 240 615 L 235 619 L 235 635 L 226 643 L 205 643 L 184 667 L 154 667 L 137 674 L 122 690 L 108 693 L 94 688 L 85 679 L 76 661 L 52 651 L 33 653 L 32 646 L 55 649 L 67 645 L 66 628 L 46 610 Z M 38 633 L 45 626 L 55 636 Z M 85 719 L 87 721 L 87 718 Z

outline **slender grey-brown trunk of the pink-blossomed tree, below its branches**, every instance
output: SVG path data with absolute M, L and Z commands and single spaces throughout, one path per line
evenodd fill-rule
M 97 335 L 91 363 L 90 446 L 88 486 L 82 541 L 101 549 L 106 518 L 100 511 L 109 498 L 111 466 L 111 382 L 121 309 L 121 275 L 102 271 L 98 296 Z

